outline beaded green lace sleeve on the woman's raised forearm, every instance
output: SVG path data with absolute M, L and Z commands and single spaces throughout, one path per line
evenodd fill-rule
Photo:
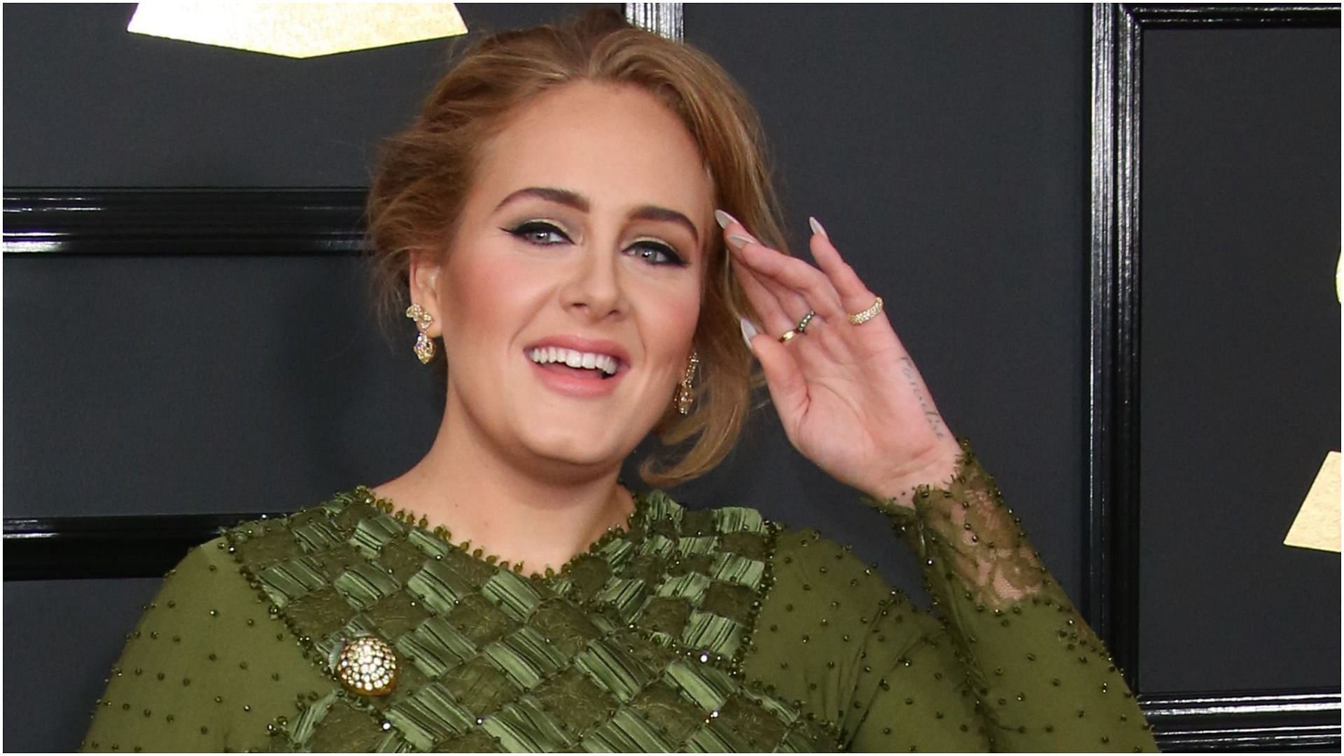
M 919 554 L 942 621 L 931 638 L 949 642 L 943 660 L 960 667 L 991 748 L 1156 749 L 1109 651 L 1042 564 L 970 443 L 960 443 L 956 474 L 919 486 L 913 510 L 870 503 Z M 887 709 L 899 706 L 872 704 L 859 747 Z

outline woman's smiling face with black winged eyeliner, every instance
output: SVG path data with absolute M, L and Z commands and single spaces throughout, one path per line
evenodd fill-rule
M 413 262 L 449 421 L 551 475 L 620 465 L 685 371 L 712 196 L 691 136 L 642 90 L 574 83 L 513 114 L 441 266 Z

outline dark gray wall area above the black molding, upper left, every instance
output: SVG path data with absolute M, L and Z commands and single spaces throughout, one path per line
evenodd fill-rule
M 579 5 L 462 4 L 468 30 Z M 620 4 L 612 4 L 618 8 Z M 454 43 L 290 59 L 128 34 L 133 3 L 4 5 L 4 183 L 363 187 Z

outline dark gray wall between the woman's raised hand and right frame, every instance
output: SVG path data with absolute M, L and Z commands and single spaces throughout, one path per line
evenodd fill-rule
M 685 16 L 687 39 L 762 113 L 796 246 L 817 215 L 883 295 L 948 424 L 972 439 L 1073 593 L 1089 24 L 1083 5 L 688 5 Z M 835 504 L 845 494 L 823 474 L 788 451 L 781 461 L 770 490 L 804 491 L 801 517 L 844 523 L 867 553 L 891 550 L 866 513 Z

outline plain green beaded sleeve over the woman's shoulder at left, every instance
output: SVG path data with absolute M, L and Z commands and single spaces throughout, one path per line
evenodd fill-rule
M 238 527 L 262 523 L 276 519 Z M 224 533 L 168 570 L 126 634 L 83 749 L 265 749 L 267 722 L 331 689 L 237 557 Z

